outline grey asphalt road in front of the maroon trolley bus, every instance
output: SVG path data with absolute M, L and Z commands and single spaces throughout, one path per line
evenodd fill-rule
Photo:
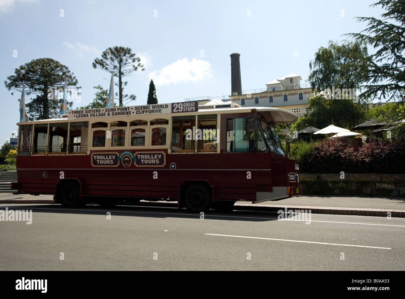
M 6 207 L 32 209 L 32 224 L 0 221 L 0 270 L 405 270 L 404 218 Z

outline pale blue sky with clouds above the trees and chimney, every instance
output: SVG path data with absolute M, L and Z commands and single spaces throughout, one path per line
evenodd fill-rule
M 319 47 L 363 30 L 354 17 L 383 13 L 369 8 L 374 2 L 0 0 L 0 145 L 17 130 L 21 96 L 3 82 L 33 59 L 68 66 L 82 87 L 76 106 L 92 102 L 93 86 L 108 89 L 111 76 L 92 62 L 116 45 L 130 47 L 145 65 L 126 79 L 124 92 L 137 96 L 128 105 L 146 103 L 150 79 L 159 103 L 230 94 L 234 52 L 241 54 L 243 90 L 290 73 L 305 83 Z

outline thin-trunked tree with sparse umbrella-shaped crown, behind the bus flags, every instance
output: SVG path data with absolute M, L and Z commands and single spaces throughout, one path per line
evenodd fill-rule
M 115 83 L 118 86 L 119 96 L 119 105 L 122 106 L 124 100 L 136 100 L 134 94 L 128 95 L 124 94 L 124 86 L 127 86 L 128 81 L 122 81 L 122 78 L 131 75 L 136 71 L 143 71 L 145 68 L 141 64 L 141 58 L 137 57 L 135 53 L 132 53 L 130 48 L 118 47 L 113 48 L 109 47 L 101 54 L 101 58 L 96 58 L 93 62 L 94 68 L 99 68 L 100 70 L 106 70 L 111 73 L 114 72 L 114 77 L 118 78 L 118 83 Z

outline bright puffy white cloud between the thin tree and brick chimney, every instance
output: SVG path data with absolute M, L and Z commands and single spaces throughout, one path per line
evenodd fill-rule
M 154 70 L 149 73 L 155 85 L 166 85 L 177 82 L 200 81 L 204 77 L 211 77 L 211 64 L 208 61 L 187 58 L 179 59 L 161 70 Z

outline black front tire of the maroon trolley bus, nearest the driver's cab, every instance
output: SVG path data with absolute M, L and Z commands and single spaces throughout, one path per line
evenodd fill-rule
M 206 212 L 211 207 L 211 194 L 200 184 L 191 185 L 185 191 L 184 205 L 193 213 Z

